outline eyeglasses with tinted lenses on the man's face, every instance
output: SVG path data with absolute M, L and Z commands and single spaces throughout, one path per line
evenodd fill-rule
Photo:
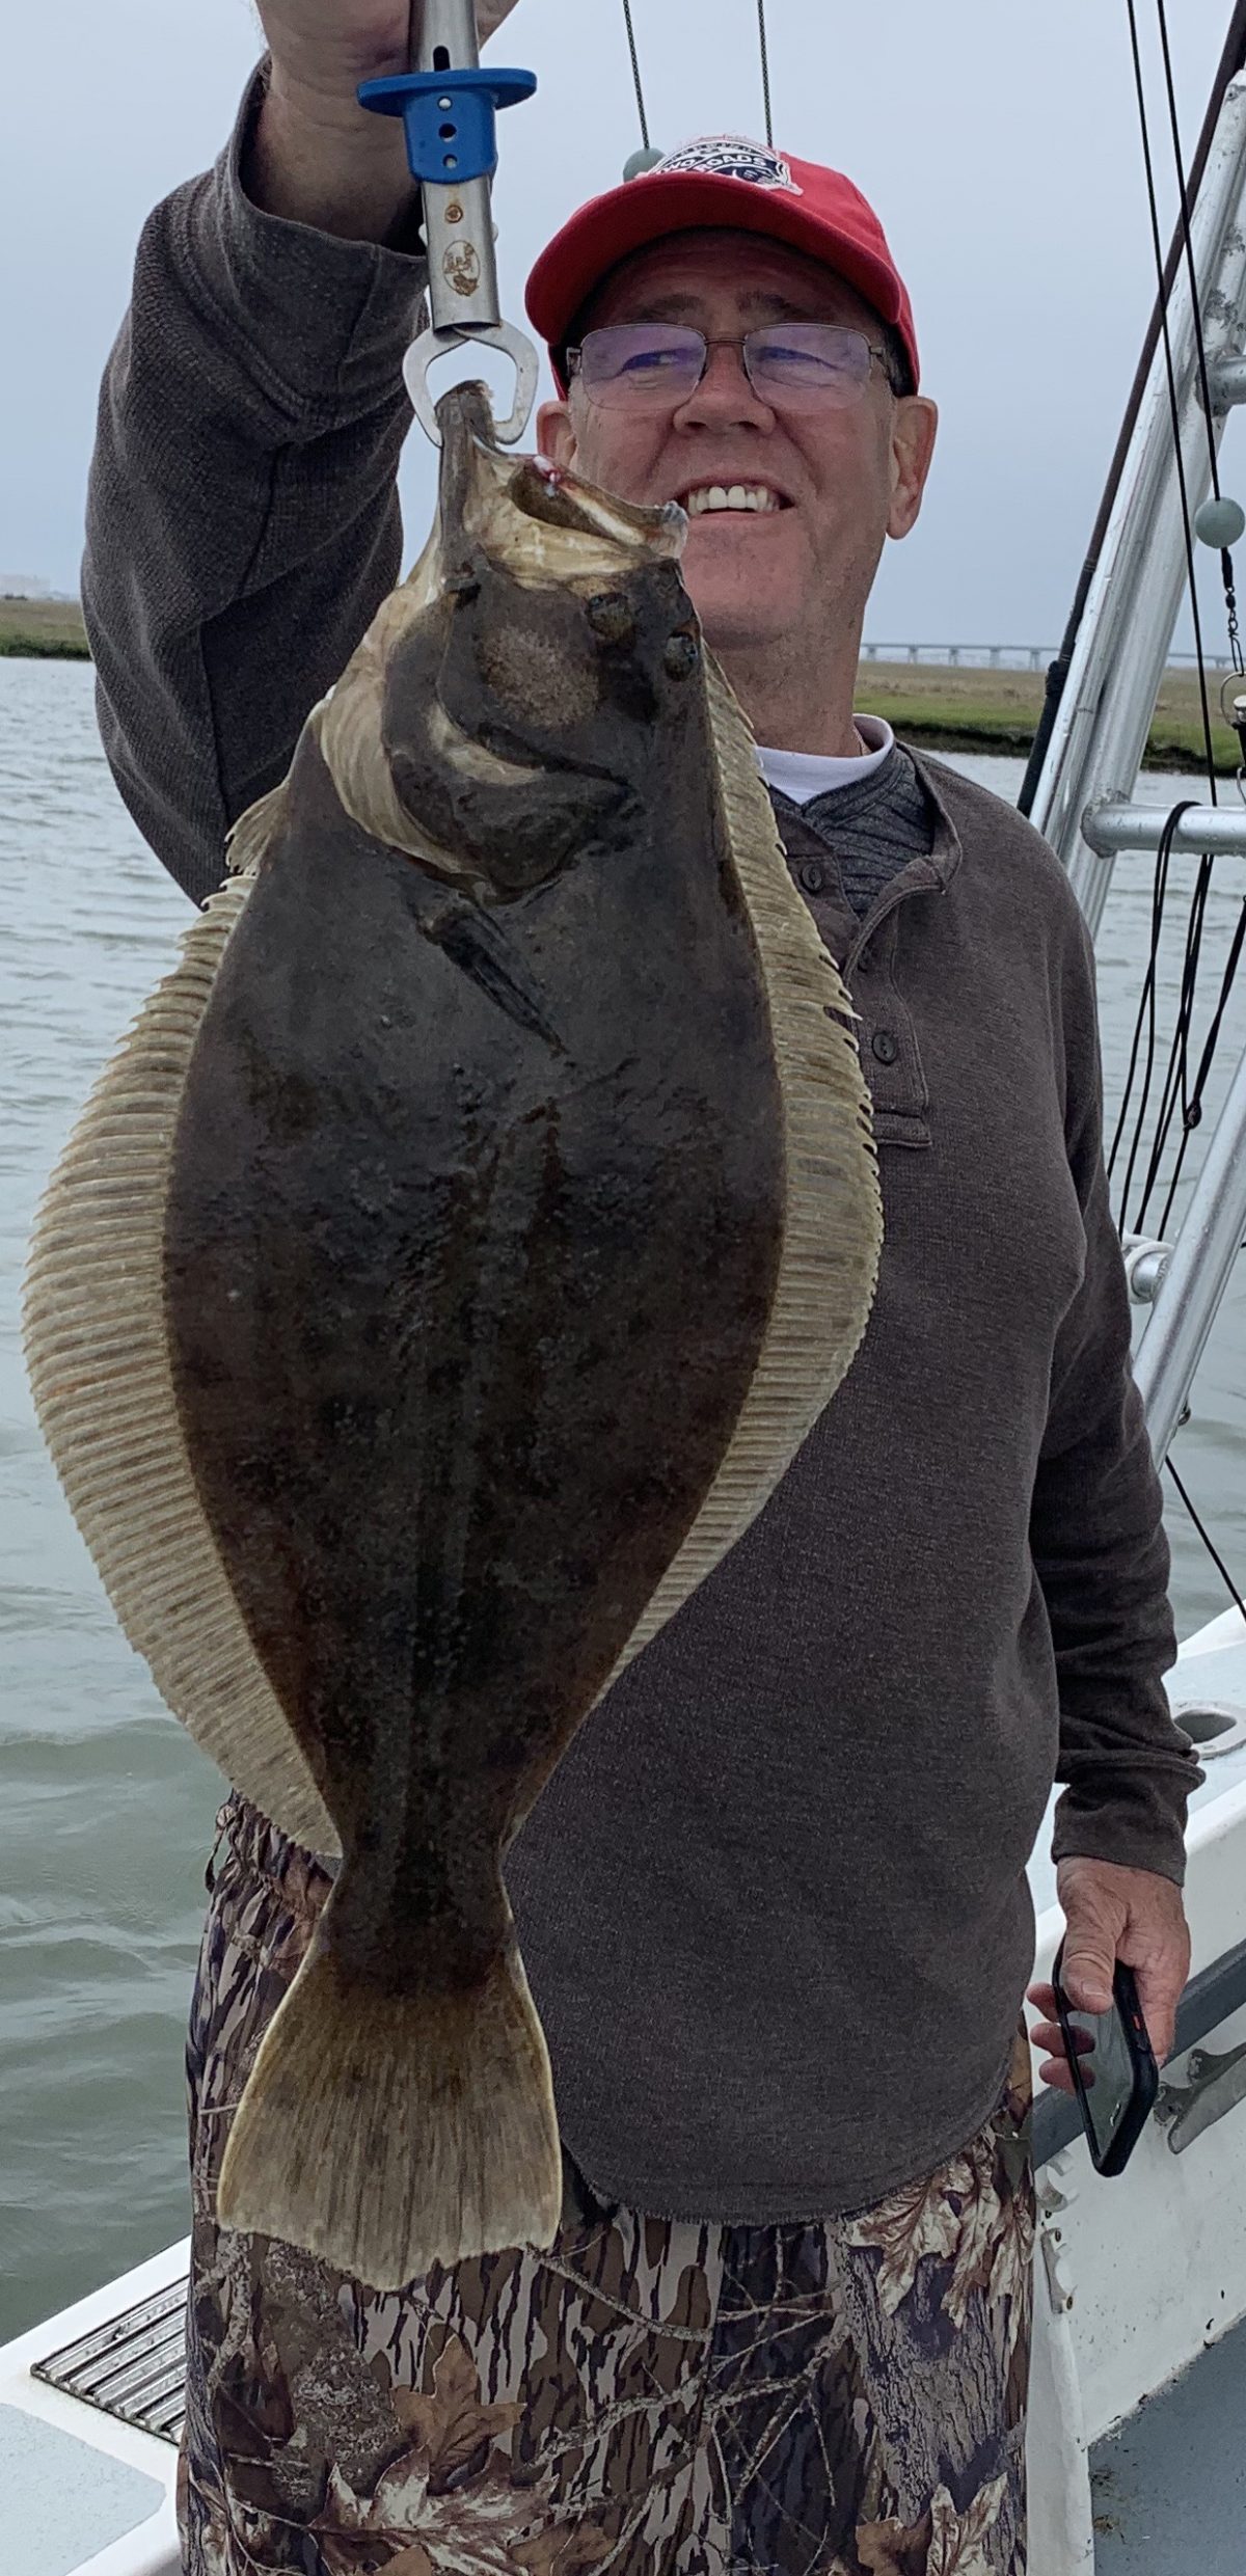
M 608 410 L 672 412 L 695 394 L 713 348 L 739 348 L 757 399 L 785 412 L 850 410 L 875 358 L 891 379 L 886 348 L 839 322 L 772 322 L 744 340 L 705 340 L 677 322 L 613 322 L 566 350 L 566 371 Z

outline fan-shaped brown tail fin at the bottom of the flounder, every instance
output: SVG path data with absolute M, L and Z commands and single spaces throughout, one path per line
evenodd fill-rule
M 234 2115 L 216 2215 L 376 2290 L 505 2246 L 553 2244 L 561 2148 L 515 1945 L 484 1984 L 384 1994 L 332 1953 L 330 1917 Z

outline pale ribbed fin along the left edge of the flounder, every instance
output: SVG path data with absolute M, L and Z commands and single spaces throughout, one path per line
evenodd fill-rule
M 286 1726 L 185 1455 L 165 1327 L 165 1200 L 191 1051 L 281 791 L 242 819 L 239 873 L 121 1038 L 49 1180 L 23 1291 L 36 1414 L 103 1589 L 160 1695 L 245 1798 L 312 1852 L 337 1832 Z

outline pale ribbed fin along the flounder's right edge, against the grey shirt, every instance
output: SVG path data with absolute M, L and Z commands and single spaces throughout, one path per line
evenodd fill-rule
M 834 958 L 801 902 L 752 729 L 705 654 L 726 840 L 762 958 L 783 1092 L 788 1216 L 775 1301 L 731 1445 L 608 1690 L 770 1502 L 862 1342 L 883 1255 L 873 1108 Z M 602 1692 L 605 1698 L 605 1692 Z

